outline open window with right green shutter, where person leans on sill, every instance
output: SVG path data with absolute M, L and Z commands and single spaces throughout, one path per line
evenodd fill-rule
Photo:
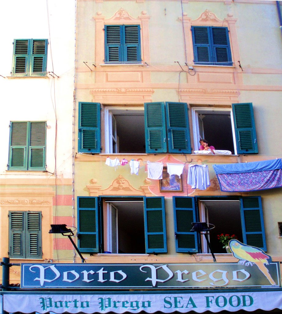
M 252 103 L 232 104 L 230 108 L 192 107 L 194 150 L 205 138 L 215 149 L 232 154 L 258 153 Z

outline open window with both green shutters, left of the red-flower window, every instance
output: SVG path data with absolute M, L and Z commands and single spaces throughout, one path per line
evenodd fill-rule
M 81 252 L 167 252 L 164 197 L 78 197 Z

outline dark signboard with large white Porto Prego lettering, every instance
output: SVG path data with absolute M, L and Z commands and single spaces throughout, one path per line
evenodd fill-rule
M 279 262 L 255 264 L 21 264 L 21 288 L 185 289 L 281 287 Z

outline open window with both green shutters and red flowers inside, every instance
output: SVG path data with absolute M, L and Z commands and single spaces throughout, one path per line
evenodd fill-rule
M 210 253 L 205 236 L 191 231 L 193 222 L 215 225 L 209 232 L 214 253 L 224 253 L 217 235 L 235 234 L 239 241 L 266 252 L 260 196 L 253 197 L 173 197 L 177 252 Z M 226 253 L 226 252 L 225 252 Z

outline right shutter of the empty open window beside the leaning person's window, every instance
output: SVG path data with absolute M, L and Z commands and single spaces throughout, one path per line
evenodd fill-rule
M 166 153 L 165 106 L 163 102 L 145 103 L 146 153 Z

